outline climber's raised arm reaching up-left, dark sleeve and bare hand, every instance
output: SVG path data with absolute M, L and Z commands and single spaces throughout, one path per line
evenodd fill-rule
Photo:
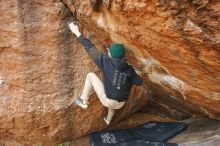
M 95 47 L 95 45 L 86 37 L 84 37 L 80 31 L 77 25 L 70 23 L 69 24 L 70 30 L 79 38 L 81 44 L 84 46 L 85 50 L 89 54 L 89 56 L 93 59 L 93 61 L 96 63 L 96 65 L 103 69 L 103 62 L 106 58 L 98 49 Z

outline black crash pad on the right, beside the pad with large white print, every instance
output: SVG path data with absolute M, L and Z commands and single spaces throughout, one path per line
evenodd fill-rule
M 186 124 L 180 122 L 149 122 L 128 130 L 137 138 L 166 141 L 184 129 L 186 129 Z

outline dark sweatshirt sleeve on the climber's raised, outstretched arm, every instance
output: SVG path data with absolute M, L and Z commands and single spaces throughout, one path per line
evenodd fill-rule
M 80 43 L 84 46 L 86 52 L 89 54 L 89 56 L 93 59 L 95 64 L 103 70 L 103 62 L 106 58 L 96 47 L 95 45 L 86 37 L 83 35 L 79 36 Z

